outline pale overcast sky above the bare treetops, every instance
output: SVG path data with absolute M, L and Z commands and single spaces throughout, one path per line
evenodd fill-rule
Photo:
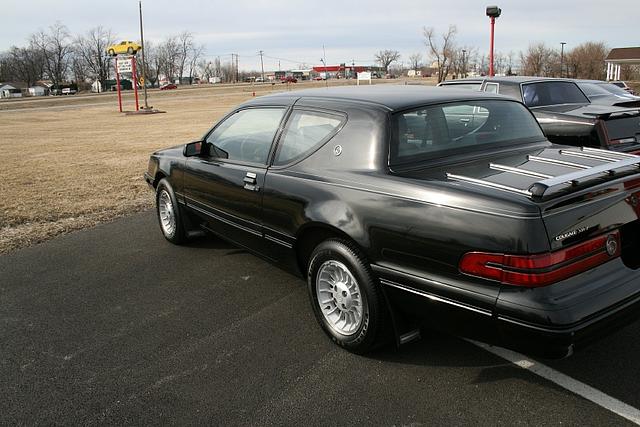
M 325 46 L 328 64 L 372 64 L 380 49 L 426 56 L 422 28 L 438 33 L 449 24 L 458 29 L 459 45 L 488 51 L 489 18 L 478 0 L 262 1 L 144 0 L 145 39 L 160 41 L 191 31 L 207 57 L 240 55 L 241 69 L 259 69 L 258 51 L 265 53 L 265 69 L 319 65 Z M 603 3 L 593 0 L 503 0 L 496 23 L 496 50 L 525 50 L 542 41 L 571 49 L 585 41 L 604 41 L 609 47 L 638 46 L 639 0 Z M 118 39 L 139 39 L 138 1 L 2 0 L 0 51 L 24 45 L 29 35 L 55 21 L 72 34 L 102 25 Z

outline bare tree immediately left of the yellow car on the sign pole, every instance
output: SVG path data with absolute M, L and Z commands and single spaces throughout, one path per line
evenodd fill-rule
M 106 55 L 107 47 L 114 43 L 114 36 L 111 30 L 106 30 L 101 26 L 87 31 L 84 35 L 76 38 L 75 56 L 81 61 L 76 64 L 84 66 L 86 74 L 98 80 L 102 87 L 109 78 L 111 71 L 111 58 Z

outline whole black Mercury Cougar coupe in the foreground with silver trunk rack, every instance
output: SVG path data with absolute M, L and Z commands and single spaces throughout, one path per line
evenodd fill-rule
M 563 357 L 638 313 L 639 167 L 551 144 L 510 98 L 385 85 L 256 98 L 145 178 L 167 240 L 301 273 L 350 351 L 426 323 Z

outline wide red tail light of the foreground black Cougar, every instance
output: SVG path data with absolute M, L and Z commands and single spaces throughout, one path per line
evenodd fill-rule
M 619 255 L 620 233 L 615 231 L 545 254 L 468 252 L 460 260 L 459 268 L 471 276 L 535 288 L 575 276 Z

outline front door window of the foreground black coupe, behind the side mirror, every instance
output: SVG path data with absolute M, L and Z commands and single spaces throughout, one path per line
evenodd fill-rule
M 266 164 L 284 108 L 249 108 L 227 117 L 206 138 L 212 157 Z

